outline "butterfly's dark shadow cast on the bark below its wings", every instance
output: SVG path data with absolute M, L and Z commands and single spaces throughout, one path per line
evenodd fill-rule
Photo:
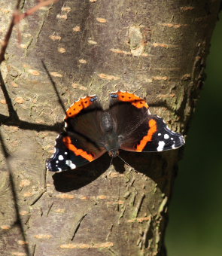
M 129 164 L 130 167 L 135 169 L 135 172 L 141 172 L 147 177 L 151 178 L 160 190 L 164 191 L 164 182 L 167 173 L 166 170 L 166 160 L 161 153 L 134 153 L 129 151 L 120 151 L 120 157 Z M 73 190 L 78 190 L 81 187 L 90 184 L 92 181 L 99 178 L 110 166 L 110 163 L 114 166 L 114 169 L 123 173 L 126 171 L 125 163 L 118 157 L 115 157 L 111 163 L 111 157 L 108 154 L 102 155 L 98 159 L 85 166 L 81 166 L 78 169 L 66 172 L 56 172 L 53 175 L 53 182 L 55 189 L 59 192 L 70 192 Z M 157 169 L 156 163 L 162 163 L 162 168 Z M 154 169 L 156 171 L 154 172 Z

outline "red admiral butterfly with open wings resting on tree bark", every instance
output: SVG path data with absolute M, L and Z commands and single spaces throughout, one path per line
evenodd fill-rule
M 53 172 L 75 169 L 106 151 L 117 157 L 119 149 L 155 152 L 184 145 L 184 137 L 148 108 L 144 99 L 121 91 L 111 93 L 107 110 L 102 109 L 97 96 L 79 99 L 66 111 L 65 130 L 56 139 L 47 168 Z

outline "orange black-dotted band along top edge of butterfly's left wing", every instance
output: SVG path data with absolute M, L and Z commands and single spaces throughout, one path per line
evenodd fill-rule
M 93 101 L 91 99 L 96 98 L 95 96 L 87 96 L 84 99 L 78 100 L 78 102 L 75 102 L 73 105 L 71 105 L 70 108 L 66 111 L 65 119 L 68 117 L 74 117 L 78 113 L 80 113 L 84 108 L 88 108 L 90 105 L 93 104 Z

